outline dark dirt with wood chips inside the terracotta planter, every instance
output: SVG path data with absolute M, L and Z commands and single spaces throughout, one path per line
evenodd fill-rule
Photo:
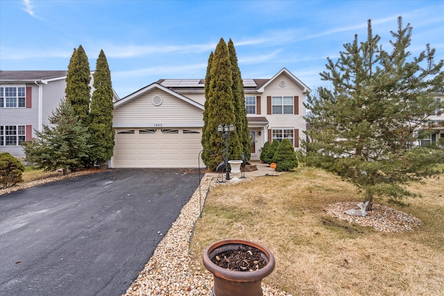
M 261 256 L 262 251 L 249 245 L 240 245 L 237 250 L 223 252 L 212 259 L 221 268 L 234 271 L 254 271 L 267 264 Z

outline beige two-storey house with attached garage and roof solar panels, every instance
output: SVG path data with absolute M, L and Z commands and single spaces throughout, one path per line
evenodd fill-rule
M 115 102 L 116 145 L 110 166 L 204 166 L 198 158 L 204 85 L 203 79 L 158 80 Z M 305 130 L 303 102 L 310 89 L 284 68 L 271 79 L 244 79 L 244 92 L 253 143 L 251 159 L 259 160 L 264 143 L 273 139 L 287 138 L 299 149 Z

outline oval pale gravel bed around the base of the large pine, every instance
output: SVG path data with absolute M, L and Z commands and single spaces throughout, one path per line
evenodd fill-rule
M 334 218 L 347 220 L 350 223 L 362 226 L 374 227 L 380 232 L 412 231 L 415 227 L 421 225 L 420 219 L 382 204 L 373 204 L 373 210 L 368 211 L 365 217 L 345 214 L 344 211 L 348 209 L 359 209 L 357 202 L 336 202 L 325 207 L 327 214 Z

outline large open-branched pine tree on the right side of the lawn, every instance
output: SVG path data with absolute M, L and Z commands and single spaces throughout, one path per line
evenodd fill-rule
M 391 32 L 391 49 L 379 45 L 368 21 L 368 37 L 345 44 L 336 62 L 327 59 L 323 80 L 334 89 L 318 89 L 308 96 L 311 110 L 305 141 L 309 164 L 341 175 L 364 191 L 371 209 L 373 197 L 411 195 L 404 184 L 434 172 L 443 150 L 417 147 L 416 130 L 439 105 L 434 94 L 444 87 L 444 61 L 434 63 L 427 45 L 418 57 L 409 57 L 412 27 Z

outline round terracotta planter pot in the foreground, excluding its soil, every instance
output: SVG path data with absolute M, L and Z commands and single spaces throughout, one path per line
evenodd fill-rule
M 254 271 L 234 271 L 221 268 L 212 262 L 219 254 L 237 250 L 239 245 L 249 245 L 262 252 L 262 258 L 267 262 L 264 268 Z M 218 241 L 207 247 L 203 253 L 203 265 L 214 275 L 214 296 L 262 296 L 261 281 L 273 272 L 275 258 L 271 252 L 257 243 L 239 239 Z

